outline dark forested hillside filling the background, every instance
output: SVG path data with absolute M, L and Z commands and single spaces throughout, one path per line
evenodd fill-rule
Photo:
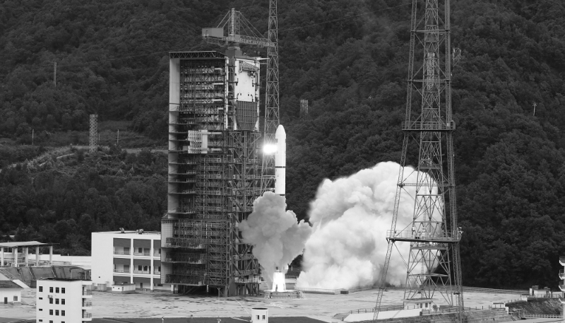
M 232 7 L 266 31 L 266 0 L 4 1 L 0 136 L 29 143 L 30 129 L 35 129 L 47 141 L 53 132 L 85 131 L 87 115 L 97 112 L 101 119 L 131 120 L 130 130 L 165 144 L 167 52 L 220 50 L 201 42 L 200 28 L 215 25 Z M 458 214 L 465 232 L 463 283 L 556 288 L 559 256 L 565 256 L 565 4 L 452 0 L 451 10 L 452 45 L 462 50 L 453 69 L 453 111 Z M 306 218 L 323 178 L 400 158 L 410 5 L 289 0 L 279 1 L 278 11 L 281 122 L 289 145 L 287 202 Z M 52 82 L 55 61 L 57 87 Z M 310 102 L 309 116 L 302 119 L 300 99 Z M 90 187 L 112 196 L 130 181 L 95 169 L 89 166 L 69 177 L 76 183 L 72 188 L 38 186 L 23 172 L 10 175 L 15 177 L 10 185 L 7 175 L 0 180 L 4 189 L 22 192 L 16 196 L 46 187 L 62 196 L 71 190 L 87 194 Z M 97 174 L 99 184 L 90 174 Z M 37 176 L 54 183 L 69 175 L 52 170 Z M 138 178 L 165 199 L 164 177 L 162 182 Z M 84 199 L 69 197 L 76 204 Z M 143 200 L 137 196 L 133 201 L 132 195 L 133 205 L 150 216 L 147 221 L 158 223 L 165 205 Z M 93 218 L 96 212 L 84 206 L 71 213 L 59 202 L 26 204 L 32 200 L 8 212 L 8 202 L 0 199 L 4 233 L 19 223 L 40 231 L 40 223 L 71 218 L 80 227 L 85 214 Z M 25 216 L 32 209 L 37 215 Z M 100 211 L 102 218 L 94 222 L 106 225 L 112 218 L 122 223 L 119 210 Z M 85 228 L 73 234 L 86 235 L 90 227 Z

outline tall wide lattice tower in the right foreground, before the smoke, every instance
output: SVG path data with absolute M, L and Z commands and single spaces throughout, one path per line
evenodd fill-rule
M 379 316 L 392 248 L 398 241 L 410 242 L 405 300 L 432 299 L 437 292 L 449 305 L 458 307 L 458 320 L 463 322 L 461 232 L 457 226 L 453 169 L 455 123 L 451 113 L 450 8 L 449 0 L 441 1 L 443 7 L 439 6 L 439 1 L 426 0 L 424 16 L 418 18 L 417 4 L 420 1 L 412 0 L 403 151 L 374 320 Z M 442 10 L 443 19 L 440 16 Z M 420 111 L 412 112 L 412 103 L 419 103 Z M 404 169 L 406 153 L 412 142 L 417 143 L 419 151 L 418 160 L 409 162 L 409 165 L 417 165 L 415 181 Z M 408 194 L 406 189 L 415 189 L 414 213 L 410 225 L 397 230 L 400 195 Z M 456 296 L 455 303 L 453 295 Z

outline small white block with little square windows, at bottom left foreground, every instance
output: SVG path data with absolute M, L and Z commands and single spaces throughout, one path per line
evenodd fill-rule
M 92 321 L 92 281 L 46 278 L 37 281 L 35 322 Z

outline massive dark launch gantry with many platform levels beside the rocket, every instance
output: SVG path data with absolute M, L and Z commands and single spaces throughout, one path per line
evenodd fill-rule
M 207 286 L 224 296 L 256 294 L 258 262 L 237 227 L 260 191 L 258 100 L 237 100 L 235 92 L 242 74 L 256 79 L 258 88 L 258 63 L 219 52 L 171 52 L 169 57 L 162 281 L 176 285 L 179 293 Z

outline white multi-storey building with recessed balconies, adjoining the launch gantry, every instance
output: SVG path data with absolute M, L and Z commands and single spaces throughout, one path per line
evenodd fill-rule
M 141 231 L 141 230 L 140 230 Z M 135 283 L 143 290 L 172 291 L 161 283 L 161 233 L 111 231 L 92 233 L 93 283 L 107 288 Z

